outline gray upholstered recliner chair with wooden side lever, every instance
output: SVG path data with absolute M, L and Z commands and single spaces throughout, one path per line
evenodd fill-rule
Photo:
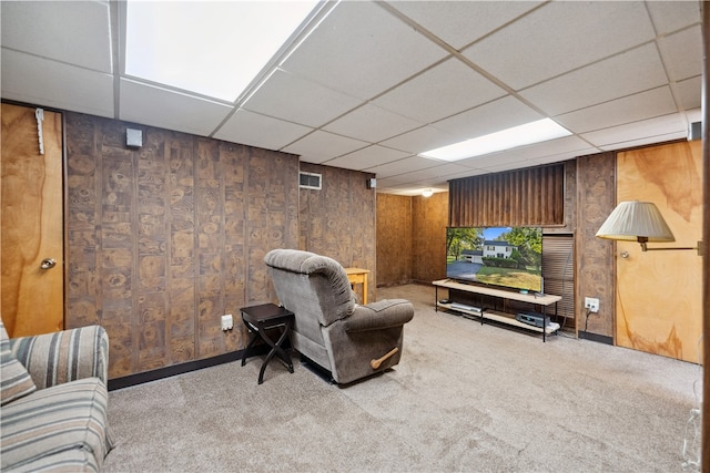
M 292 346 L 346 384 L 399 362 L 404 325 L 414 317 L 405 299 L 356 304 L 345 269 L 334 259 L 296 249 L 264 257 L 280 302 L 294 312 Z

